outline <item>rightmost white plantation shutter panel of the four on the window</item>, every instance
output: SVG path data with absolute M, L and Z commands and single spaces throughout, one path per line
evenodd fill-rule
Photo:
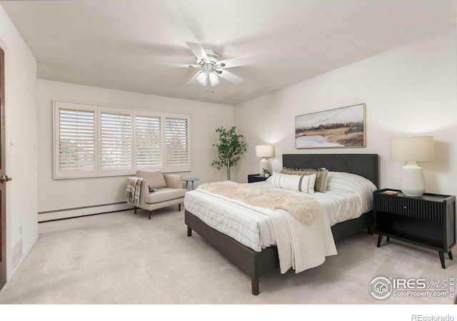
M 166 172 L 191 170 L 189 116 L 165 113 Z

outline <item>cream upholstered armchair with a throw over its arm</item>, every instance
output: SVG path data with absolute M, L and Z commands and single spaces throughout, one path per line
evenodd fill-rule
M 143 178 L 138 205 L 127 200 L 129 204 L 134 205 L 135 214 L 137 208 L 149 210 L 149 220 L 151 220 L 152 210 L 171 205 L 178 205 L 181 210 L 181 204 L 184 203 L 184 195 L 187 192 L 183 188 L 181 175 L 163 174 L 160 170 L 137 170 L 136 177 Z

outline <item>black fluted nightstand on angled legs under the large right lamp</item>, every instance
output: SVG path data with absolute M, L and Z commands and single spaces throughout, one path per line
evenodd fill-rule
M 374 231 L 378 248 L 383 236 L 422 245 L 438 251 L 441 267 L 446 268 L 444 253 L 452 260 L 456 245 L 456 196 L 424 193 L 420 197 L 386 195 L 374 192 Z

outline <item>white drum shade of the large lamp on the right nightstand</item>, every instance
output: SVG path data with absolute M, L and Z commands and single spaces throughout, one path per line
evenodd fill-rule
M 392 161 L 433 161 L 433 136 L 391 138 Z

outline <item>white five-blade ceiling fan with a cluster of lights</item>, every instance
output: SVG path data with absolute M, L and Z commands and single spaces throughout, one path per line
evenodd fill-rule
M 196 57 L 196 64 L 154 63 L 154 66 L 199 68 L 201 70 L 197 71 L 188 83 L 199 83 L 202 86 L 206 86 L 210 83 L 211 86 L 216 86 L 219 83 L 219 77 L 236 84 L 243 82 L 243 78 L 227 71 L 226 68 L 246 66 L 256 62 L 255 56 L 243 56 L 221 60 L 221 57 L 216 54 L 216 51 L 213 49 L 205 49 L 201 44 L 195 42 L 186 41 L 186 44 Z

